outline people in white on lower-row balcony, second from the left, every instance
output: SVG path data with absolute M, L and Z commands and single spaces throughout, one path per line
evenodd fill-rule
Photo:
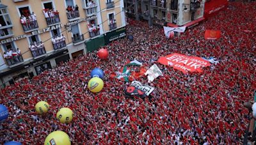
M 31 43 L 29 45 L 29 49 L 31 50 L 33 57 L 38 57 L 42 54 L 45 54 L 44 43 L 42 41 L 38 43 L 36 42 Z

